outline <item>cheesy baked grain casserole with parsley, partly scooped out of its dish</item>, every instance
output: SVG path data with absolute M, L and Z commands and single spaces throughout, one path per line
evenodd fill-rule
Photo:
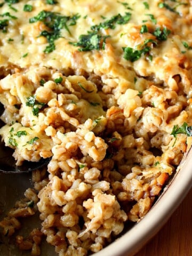
M 17 165 L 52 157 L 2 232 L 31 255 L 44 236 L 60 256 L 98 252 L 145 216 L 191 145 L 191 1 L 0 5 L 0 135 Z

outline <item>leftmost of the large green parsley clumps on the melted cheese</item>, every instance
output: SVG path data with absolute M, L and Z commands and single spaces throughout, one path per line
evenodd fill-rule
M 81 15 L 75 14 L 72 17 L 63 16 L 60 13 L 50 12 L 50 11 L 41 11 L 35 17 L 29 19 L 29 23 L 34 23 L 37 21 L 42 21 L 47 30 L 43 30 L 39 36 L 44 36 L 47 39 L 49 45 L 46 46 L 44 52 L 50 53 L 55 50 L 54 41 L 61 37 L 61 29 L 66 29 L 70 34 L 68 26 L 76 25 L 77 19 Z

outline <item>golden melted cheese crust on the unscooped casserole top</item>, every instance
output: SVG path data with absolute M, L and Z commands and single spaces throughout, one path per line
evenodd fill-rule
M 13 63 L 23 68 L 30 65 L 42 65 L 58 70 L 84 69 L 89 72 L 94 70 L 98 74 L 110 73 L 113 77 L 116 76 L 116 69 L 122 69 L 123 72 L 124 68 L 133 67 L 141 76 L 155 75 L 169 83 L 169 78 L 182 70 L 180 62 L 186 65 L 188 58 L 191 57 L 191 51 L 187 51 L 187 54 L 182 53 L 186 50 L 182 42 L 191 44 L 188 26 L 188 17 L 191 12 L 190 1 L 184 1 L 185 4 L 179 5 L 175 12 L 160 8 L 158 6 L 160 1 L 154 0 L 129 1 L 129 3 L 110 0 L 104 3 L 101 0 L 60 0 L 57 2 L 58 4 L 50 5 L 41 0 L 19 1 L 12 5 L 17 12 L 7 4 L 1 7 L 2 14 L 9 12 L 16 17 L 1 18 L 9 20 L 7 32 L 1 32 L 1 66 Z M 166 2 L 176 5 L 176 3 L 171 3 L 172 1 Z M 23 11 L 25 4 L 32 5 L 33 10 Z M 42 21 L 29 22 L 30 18 L 36 17 L 41 11 L 57 12 L 67 17 L 73 17 L 75 14 L 81 15 L 74 26 L 68 26 L 70 33 L 65 28 L 61 29 L 61 37 L 55 40 L 55 50 L 49 54 L 44 53 L 47 39 L 39 36 L 46 28 L 44 23 Z M 77 42 L 82 34 L 87 34 L 91 26 L 99 25 L 118 14 L 123 16 L 127 12 L 131 14 L 129 22 L 115 24 L 114 29 L 101 29 L 102 35 L 110 36 L 107 39 L 105 50 L 79 52 L 78 47 L 69 44 L 69 42 Z M 148 32 L 141 34 L 140 30 L 143 25 L 148 27 Z M 158 42 L 157 45 L 149 44 L 153 60 L 149 61 L 144 56 L 139 61 L 131 63 L 123 58 L 122 47 L 135 48 L 142 45 L 146 39 L 154 38 L 151 33 L 157 27 L 166 27 L 170 30 L 170 34 L 167 40 Z M 10 41 L 10 38 L 13 41 Z M 25 54 L 27 56 L 24 58 Z M 174 69 L 172 63 L 174 63 Z M 175 67 L 176 63 L 178 65 Z M 170 71 L 169 75 L 163 72 L 167 69 Z M 124 76 L 125 79 L 128 78 L 125 74 Z

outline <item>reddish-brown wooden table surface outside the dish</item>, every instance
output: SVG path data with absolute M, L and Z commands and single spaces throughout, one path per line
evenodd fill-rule
M 192 189 L 165 226 L 135 256 L 192 256 Z

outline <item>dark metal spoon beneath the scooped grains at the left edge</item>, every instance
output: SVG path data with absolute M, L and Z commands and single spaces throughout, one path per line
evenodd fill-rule
M 0 116 L 3 114 L 4 106 L 0 103 Z M 0 127 L 2 127 L 4 123 L 0 121 Z M 29 162 L 24 161 L 21 166 L 17 166 L 15 164 L 15 159 L 12 156 L 14 150 L 10 147 L 6 147 L 5 143 L 1 141 L 0 136 L 0 172 L 3 173 L 24 173 L 31 172 L 33 170 L 39 169 L 44 165 L 47 165 L 51 158 L 41 158 L 38 162 Z

